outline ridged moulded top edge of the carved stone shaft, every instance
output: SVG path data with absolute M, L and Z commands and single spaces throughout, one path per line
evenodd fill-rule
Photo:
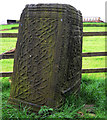
M 26 17 L 40 12 L 59 12 L 61 14 L 69 14 L 72 18 L 75 18 L 78 14 L 79 17 L 82 17 L 81 12 L 69 4 L 27 4 L 23 12 Z

